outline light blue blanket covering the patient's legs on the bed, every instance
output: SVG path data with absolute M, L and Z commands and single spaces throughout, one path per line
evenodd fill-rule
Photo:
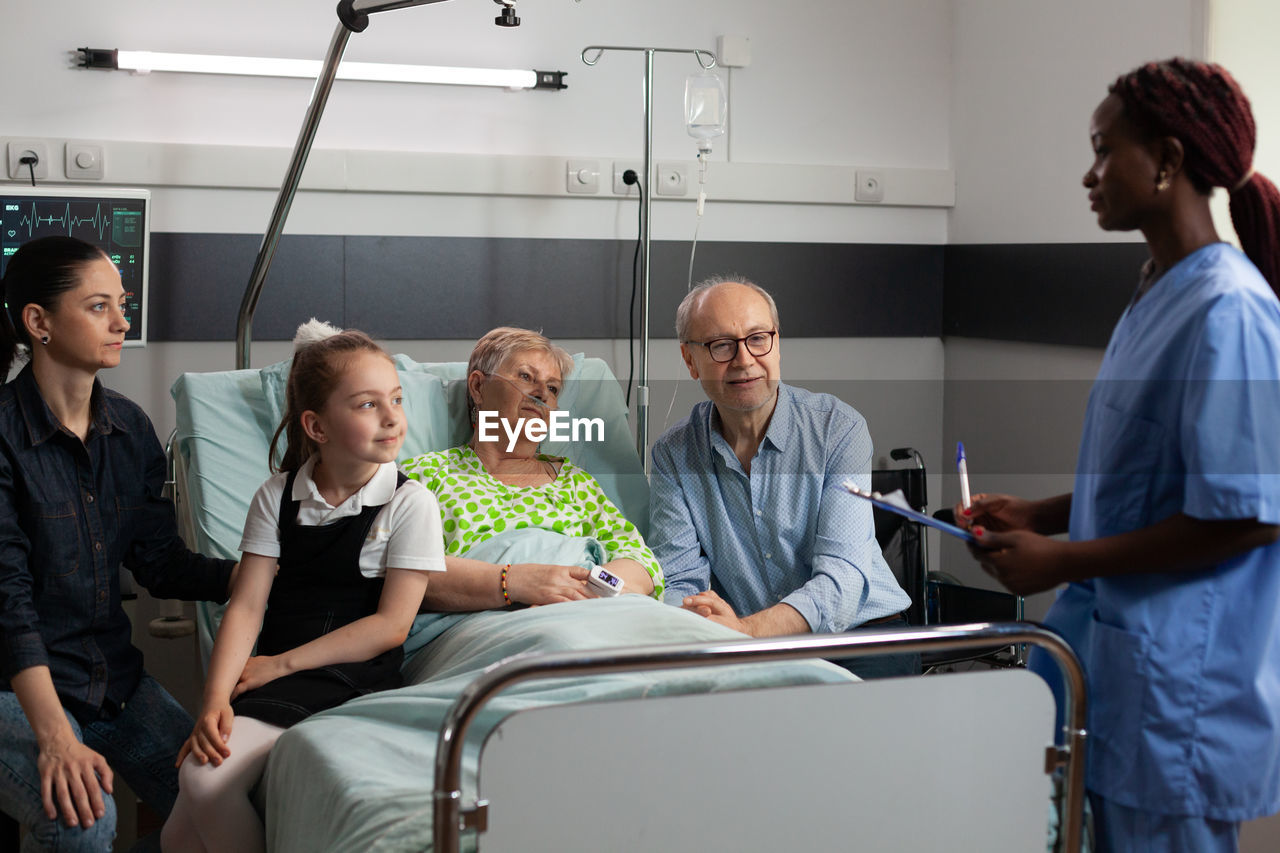
M 265 779 L 269 849 L 430 849 L 436 733 L 460 692 L 490 663 L 522 652 L 735 639 L 742 635 L 641 596 L 466 615 L 413 656 L 407 665 L 410 686 L 317 713 L 284 733 Z M 841 667 L 812 661 L 527 681 L 499 694 L 472 725 L 465 749 L 465 802 L 476 795 L 480 744 L 515 711 L 851 678 Z

